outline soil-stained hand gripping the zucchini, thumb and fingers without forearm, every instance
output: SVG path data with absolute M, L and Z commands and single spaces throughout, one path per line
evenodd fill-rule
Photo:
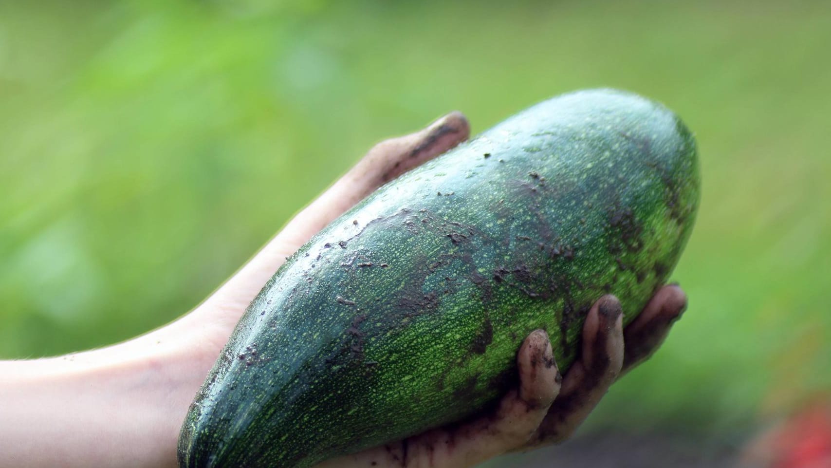
M 423 131 L 376 145 L 214 294 L 209 302 L 227 305 L 210 308 L 210 313 L 227 313 L 229 317 L 209 318 L 209 322 L 236 323 L 238 314 L 256 295 L 259 285 L 283 264 L 286 255 L 299 249 L 317 230 L 378 185 L 450 150 L 468 135 L 465 117 L 454 112 Z M 612 382 L 660 346 L 672 323 L 686 308 L 686 296 L 676 285 L 659 289 L 636 321 L 623 330 L 617 299 L 602 298 L 606 314 L 598 313 L 600 303 L 594 304 L 583 328 L 581 357 L 564 377 L 560 376 L 556 364 L 548 366 L 552 359 L 548 334 L 535 331 L 518 348 L 519 378 L 514 388 L 493 409 L 460 423 L 324 461 L 317 468 L 462 468 L 509 451 L 565 440 L 593 410 Z M 227 336 L 230 332 L 227 329 L 219 335 Z M 222 340 L 214 340 L 217 341 Z

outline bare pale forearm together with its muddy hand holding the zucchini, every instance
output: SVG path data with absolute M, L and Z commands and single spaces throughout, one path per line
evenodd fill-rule
M 248 303 L 285 258 L 377 187 L 469 132 L 465 117 L 454 112 L 423 131 L 376 145 L 174 323 L 94 351 L 0 362 L 0 468 L 174 468 L 191 400 Z M 564 377 L 547 334 L 534 331 L 517 353 L 517 387 L 494 409 L 317 468 L 465 468 L 562 441 L 612 382 L 656 350 L 684 308 L 681 288 L 665 286 L 624 330 L 620 303 L 604 296 L 588 313 L 582 353 Z

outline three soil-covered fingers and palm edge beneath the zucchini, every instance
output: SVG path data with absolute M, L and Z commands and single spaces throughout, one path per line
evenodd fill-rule
M 620 302 L 604 296 L 588 313 L 580 358 L 564 378 L 553 360 L 548 335 L 536 330 L 517 353 L 519 387 L 490 414 L 340 456 L 315 468 L 465 468 L 509 451 L 563 441 L 613 382 L 656 351 L 685 308 L 681 288 L 665 286 L 623 330 Z M 629 346 L 624 347 L 624 342 Z

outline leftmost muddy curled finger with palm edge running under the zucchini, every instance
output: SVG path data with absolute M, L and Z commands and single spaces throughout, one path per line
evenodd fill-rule
M 524 445 L 559 392 L 561 378 L 548 334 L 536 330 L 517 353 L 519 388 L 487 416 L 445 426 L 405 441 L 324 462 L 316 468 L 407 466 L 463 468 Z

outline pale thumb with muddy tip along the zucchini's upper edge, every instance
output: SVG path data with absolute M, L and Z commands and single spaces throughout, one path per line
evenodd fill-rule
M 289 221 L 209 301 L 230 311 L 243 310 L 285 259 L 312 235 L 386 181 L 450 150 L 466 140 L 468 135 L 470 125 L 465 116 L 456 111 L 422 131 L 379 143 L 346 175 Z M 236 318 L 232 322 L 236 323 Z

